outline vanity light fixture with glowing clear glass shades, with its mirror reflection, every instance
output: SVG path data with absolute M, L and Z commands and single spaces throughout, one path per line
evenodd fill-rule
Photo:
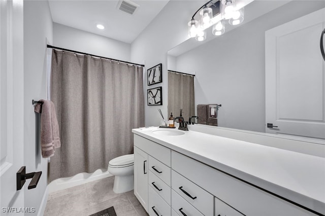
M 199 12 L 199 18 L 194 17 Z M 197 10 L 187 23 L 188 36 L 198 41 L 206 39 L 206 29 L 212 27 L 212 34 L 219 36 L 225 32 L 225 21 L 238 25 L 244 20 L 244 8 L 236 5 L 236 0 L 210 0 Z

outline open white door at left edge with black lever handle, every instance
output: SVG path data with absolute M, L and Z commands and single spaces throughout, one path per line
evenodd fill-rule
M 23 1 L 0 1 L 0 215 L 23 213 L 24 190 L 16 190 L 23 166 Z

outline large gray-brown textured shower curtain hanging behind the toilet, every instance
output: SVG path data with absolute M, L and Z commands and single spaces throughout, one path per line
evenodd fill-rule
M 144 126 L 143 68 L 53 49 L 51 101 L 61 148 L 50 181 L 107 169 L 112 158 L 133 153 L 131 129 Z

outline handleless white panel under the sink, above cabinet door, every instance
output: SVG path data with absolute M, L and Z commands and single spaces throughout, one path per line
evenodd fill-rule
M 134 145 L 152 157 L 171 167 L 171 150 L 151 140 L 134 135 Z

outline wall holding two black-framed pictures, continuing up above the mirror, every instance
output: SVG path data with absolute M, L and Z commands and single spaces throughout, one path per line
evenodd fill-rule
M 179 10 L 184 6 L 189 8 Z M 144 62 L 144 91 L 145 91 L 145 125 L 159 125 L 161 117 L 157 111 L 160 108 L 167 119 L 168 103 L 168 80 L 167 80 L 167 52 L 185 41 L 187 36 L 187 20 L 192 16 L 198 7 L 202 6 L 202 1 L 170 1 L 156 18 L 145 28 L 145 30 L 133 41 L 131 46 L 131 61 Z M 159 63 L 163 64 L 163 82 L 155 85 L 147 85 L 146 69 Z M 163 105 L 147 106 L 147 89 L 163 87 Z

